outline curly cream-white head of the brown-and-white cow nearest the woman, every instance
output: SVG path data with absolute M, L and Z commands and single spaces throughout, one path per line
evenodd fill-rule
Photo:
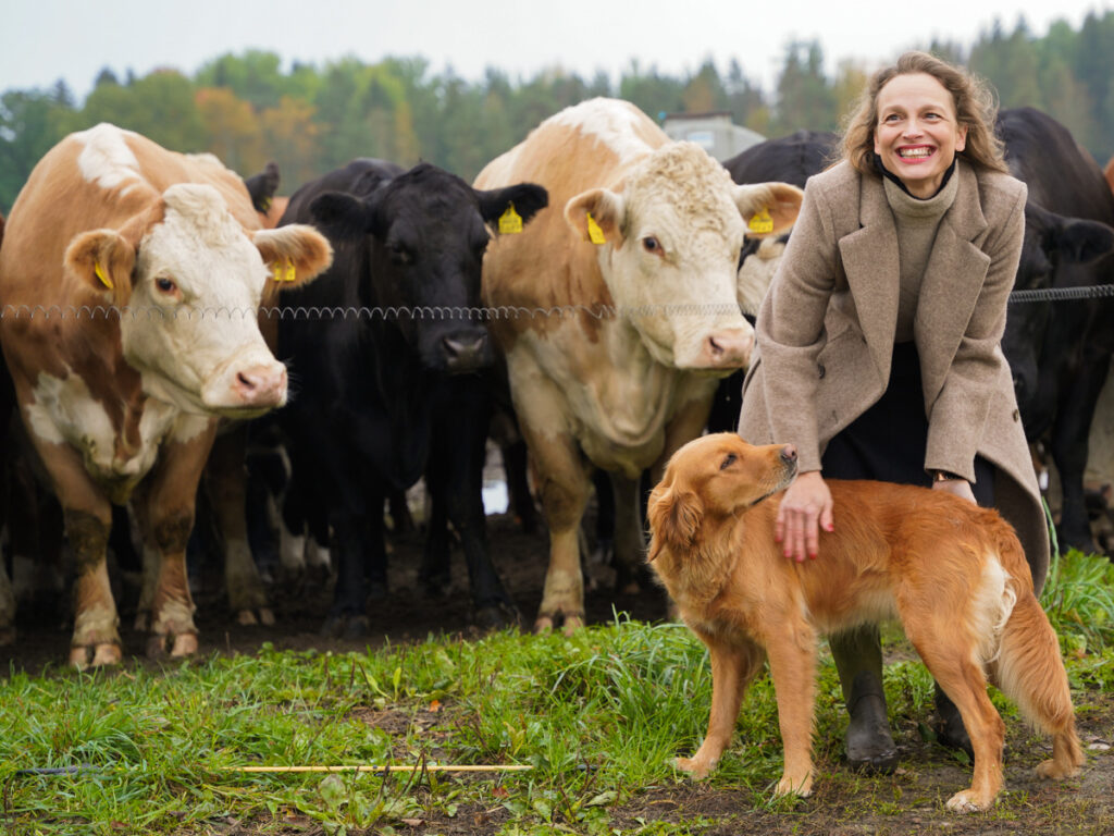
M 754 342 L 736 300 L 743 234 L 755 215 L 769 215 L 764 234 L 792 224 L 801 193 L 782 186 L 736 186 L 702 148 L 673 143 L 632 172 L 622 193 L 585 192 L 565 216 L 605 241 L 604 280 L 655 360 L 727 373 L 750 362 Z

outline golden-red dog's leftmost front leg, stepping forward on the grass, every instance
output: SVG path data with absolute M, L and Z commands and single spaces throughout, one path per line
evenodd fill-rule
M 694 778 L 704 778 L 720 762 L 720 756 L 731 742 L 743 694 L 762 670 L 763 654 L 759 645 L 745 639 L 729 642 L 707 633 L 697 632 L 697 635 L 712 657 L 712 712 L 700 749 L 691 758 L 677 758 L 675 765 Z

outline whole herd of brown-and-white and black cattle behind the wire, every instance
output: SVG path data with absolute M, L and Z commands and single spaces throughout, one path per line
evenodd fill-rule
M 1114 185 L 1036 110 L 1005 110 L 998 129 L 1028 184 L 1016 286 L 1114 283 Z M 121 506 L 141 544 L 148 652 L 196 651 L 186 547 L 203 484 L 233 610 L 273 619 L 245 516 L 245 450 L 262 431 L 289 461 L 285 528 L 334 563 L 328 630 L 367 630 L 369 599 L 387 593 L 384 503 L 419 479 L 423 577 L 444 583 L 451 524 L 477 622 L 506 623 L 515 604 L 481 499 L 496 422 L 520 434 L 505 459 L 525 460 L 525 443 L 548 527 L 535 625 L 582 624 L 594 485 L 610 483 L 618 583 L 637 584 L 644 475 L 706 427 L 734 426 L 744 313 L 836 142 L 801 132 L 721 165 L 632 105 L 594 99 L 473 185 L 358 159 L 284 203 L 273 167 L 245 182 L 110 125 L 63 139 L 0 221 L 0 427 L 6 467 L 27 465 L 61 508 L 70 662 L 121 658 L 106 562 L 129 524 Z M 1003 342 L 1029 438 L 1059 475 L 1061 544 L 1088 550 L 1084 472 L 1112 324 L 1110 298 L 1026 302 Z M 8 552 L 33 562 L 20 531 L 35 487 L 6 482 Z M 16 599 L 0 562 L 0 641 L 13 640 Z

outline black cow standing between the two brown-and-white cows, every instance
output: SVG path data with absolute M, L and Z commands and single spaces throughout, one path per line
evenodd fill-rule
M 332 527 L 338 580 L 326 631 L 367 630 L 369 590 L 385 594 L 384 497 L 422 476 L 432 502 L 423 577 L 447 579 L 448 518 L 477 622 L 515 613 L 486 544 L 482 375 L 494 352 L 475 311 L 492 227 L 509 207 L 529 221 L 547 200 L 532 184 L 482 192 L 436 166 L 407 172 L 375 159 L 354 161 L 291 198 L 281 223 L 311 222 L 335 247 L 312 291 L 284 297 L 278 339 L 296 387 L 281 415 L 293 479 L 324 504 Z M 301 315 L 302 307 L 346 313 Z

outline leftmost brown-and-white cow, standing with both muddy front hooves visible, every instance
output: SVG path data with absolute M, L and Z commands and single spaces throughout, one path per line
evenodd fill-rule
M 285 402 L 256 309 L 331 259 L 312 227 L 261 230 L 215 157 L 111 125 L 31 172 L 0 250 L 0 342 L 77 562 L 74 664 L 120 659 L 105 546 L 128 500 L 160 558 L 148 652 L 196 650 L 185 545 L 217 420 Z

